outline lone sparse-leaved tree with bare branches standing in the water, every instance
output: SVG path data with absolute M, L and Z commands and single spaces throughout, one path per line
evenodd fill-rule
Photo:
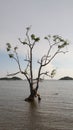
M 44 54 L 40 60 L 37 61 L 37 64 L 39 64 L 39 68 L 37 70 L 37 77 L 34 78 L 33 76 L 33 49 L 34 46 L 36 45 L 37 42 L 40 41 L 40 37 L 35 36 L 35 34 L 29 34 L 30 31 L 30 27 L 26 28 L 26 38 L 24 39 L 24 41 L 22 41 L 19 38 L 19 42 L 20 44 L 22 44 L 23 46 L 28 46 L 29 48 L 29 52 L 27 53 L 27 58 L 24 59 L 25 62 L 27 62 L 27 66 L 26 68 L 24 68 L 24 70 L 22 70 L 21 68 L 21 63 L 19 60 L 19 55 L 18 55 L 18 47 L 15 46 L 12 49 L 12 46 L 10 43 L 7 43 L 7 52 L 10 58 L 13 58 L 19 68 L 18 72 L 9 74 L 8 76 L 11 75 L 16 75 L 18 73 L 23 74 L 28 83 L 29 83 L 29 87 L 30 87 L 30 96 L 26 99 L 27 101 L 34 99 L 34 97 L 36 97 L 36 95 L 38 96 L 38 99 L 40 99 L 40 95 L 37 93 L 38 88 L 39 88 L 39 82 L 41 81 L 41 78 L 43 75 L 48 76 L 53 78 L 53 76 L 55 75 L 56 70 L 53 69 L 51 71 L 51 73 L 49 72 L 49 68 L 48 71 L 42 71 L 44 67 L 46 67 L 55 57 L 56 55 L 58 55 L 59 53 L 67 53 L 67 50 L 64 50 L 65 47 L 67 45 L 69 45 L 69 42 L 67 40 L 64 40 L 61 36 L 59 35 L 47 35 L 44 37 L 44 39 L 48 42 L 48 51 L 46 51 L 46 54 Z M 36 84 L 35 88 L 34 88 L 34 84 Z

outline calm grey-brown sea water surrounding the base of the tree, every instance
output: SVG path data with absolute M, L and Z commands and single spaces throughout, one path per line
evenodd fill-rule
M 73 130 L 73 81 L 44 81 L 41 102 L 26 81 L 0 81 L 0 130 Z

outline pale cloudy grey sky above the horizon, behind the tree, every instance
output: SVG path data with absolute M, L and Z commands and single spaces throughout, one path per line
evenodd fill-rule
M 46 69 L 56 68 L 54 79 L 73 77 L 73 0 L 0 0 L 0 77 L 18 71 L 15 61 L 7 55 L 6 43 L 20 47 L 21 64 L 25 68 L 22 58 L 26 48 L 20 46 L 18 38 L 25 39 L 26 27 L 30 25 L 31 33 L 41 38 L 34 49 L 35 60 L 47 50 L 44 36 L 60 35 L 69 41 L 69 52 L 58 55 Z

